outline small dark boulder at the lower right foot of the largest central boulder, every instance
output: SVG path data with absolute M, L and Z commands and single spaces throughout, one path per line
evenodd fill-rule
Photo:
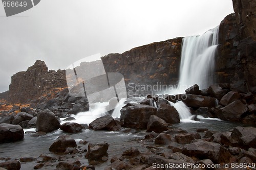
M 161 118 L 155 115 L 151 115 L 150 119 L 148 119 L 147 123 L 147 132 L 156 132 L 156 133 L 161 133 L 163 131 L 168 130 L 168 124 Z

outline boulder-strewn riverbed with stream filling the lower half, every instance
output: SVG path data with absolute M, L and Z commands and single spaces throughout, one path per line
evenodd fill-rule
M 183 169 L 195 169 L 192 164 L 224 169 L 227 163 L 230 168 L 240 163 L 253 169 L 255 101 L 252 93 L 230 91 L 228 84 L 207 90 L 194 85 L 184 94 L 127 99 L 120 118 L 106 113 L 78 124 L 76 114 L 88 111 L 89 104 L 64 89 L 54 99 L 33 104 L 33 109 L 14 106 L 1 112 L 0 167 L 170 169 L 190 163 Z M 179 102 L 189 106 L 193 120 L 180 119 L 174 107 Z

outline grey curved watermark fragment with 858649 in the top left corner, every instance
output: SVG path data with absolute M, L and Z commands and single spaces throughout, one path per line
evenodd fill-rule
M 7 17 L 27 11 L 39 2 L 40 0 L 2 0 Z

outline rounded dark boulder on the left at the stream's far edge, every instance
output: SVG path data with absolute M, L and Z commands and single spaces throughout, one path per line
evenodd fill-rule
M 60 128 L 58 119 L 52 112 L 41 111 L 37 114 L 36 131 L 52 132 Z

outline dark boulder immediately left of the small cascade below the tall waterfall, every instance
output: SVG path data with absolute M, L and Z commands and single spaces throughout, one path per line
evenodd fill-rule
M 161 104 L 160 108 L 157 110 L 158 117 L 163 119 L 166 123 L 169 124 L 178 124 L 180 123 L 180 116 L 175 107 L 168 104 Z

